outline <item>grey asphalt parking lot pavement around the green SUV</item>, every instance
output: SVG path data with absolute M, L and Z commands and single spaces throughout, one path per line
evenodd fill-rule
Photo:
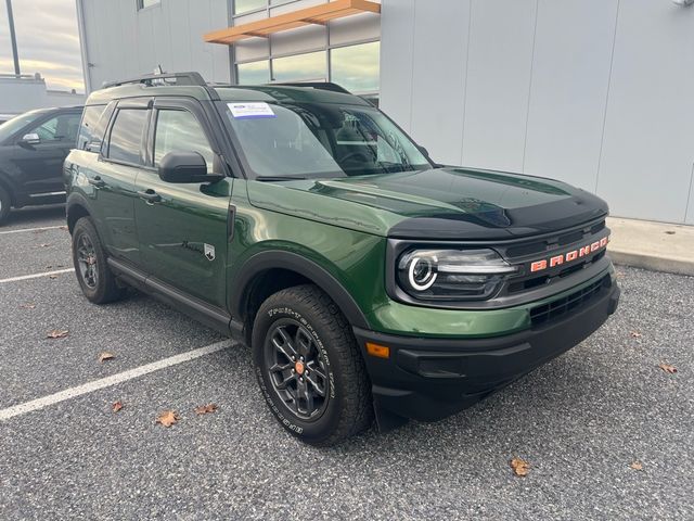
M 694 519 L 692 277 L 618 267 L 619 310 L 562 357 L 441 422 L 319 449 L 266 410 L 241 345 L 86 390 L 223 339 L 137 293 L 91 305 L 72 272 L 17 280 L 72 267 L 63 225 L 49 207 L 0 228 L 2 520 Z

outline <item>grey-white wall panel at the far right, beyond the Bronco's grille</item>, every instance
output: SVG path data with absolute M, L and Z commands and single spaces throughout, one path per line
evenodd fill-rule
M 597 193 L 616 214 L 683 223 L 694 162 L 694 9 L 620 3 Z

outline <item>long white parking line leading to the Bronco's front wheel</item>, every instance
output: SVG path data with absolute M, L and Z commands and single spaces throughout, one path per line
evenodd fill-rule
M 166 369 L 167 367 L 171 366 L 177 366 L 179 364 L 183 364 L 184 361 L 194 360 L 195 358 L 200 358 L 201 356 L 211 355 L 213 353 L 217 353 L 218 351 L 231 347 L 231 340 L 222 340 L 221 342 L 216 342 L 205 347 L 200 347 L 187 353 L 181 353 L 180 355 L 170 356 L 158 361 L 153 361 L 144 366 L 136 367 L 134 369 L 129 369 L 124 372 L 118 372 L 117 374 L 112 374 L 111 377 L 94 380 L 82 385 L 77 385 L 76 387 L 69 387 L 65 391 L 60 391 L 41 398 L 31 399 L 30 402 L 25 402 L 24 404 L 18 404 L 5 409 L 0 409 L 0 421 L 9 420 L 10 418 L 14 418 L 15 416 L 26 415 L 27 412 L 33 412 L 50 405 L 65 402 L 66 399 L 72 399 L 85 394 L 93 393 L 94 391 L 99 391 L 101 389 L 111 387 L 113 385 L 127 382 L 128 380 L 132 380 L 133 378 L 149 374 L 150 372 Z

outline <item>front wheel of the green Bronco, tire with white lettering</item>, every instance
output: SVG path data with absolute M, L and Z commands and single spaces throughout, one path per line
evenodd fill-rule
M 265 301 L 252 344 L 262 397 L 294 436 L 330 446 L 373 422 L 371 384 L 351 328 L 317 287 L 288 288 Z

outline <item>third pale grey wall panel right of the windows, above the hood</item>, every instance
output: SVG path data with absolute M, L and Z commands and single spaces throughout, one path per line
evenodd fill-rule
M 473 0 L 465 165 L 523 169 L 536 8 L 536 0 Z

